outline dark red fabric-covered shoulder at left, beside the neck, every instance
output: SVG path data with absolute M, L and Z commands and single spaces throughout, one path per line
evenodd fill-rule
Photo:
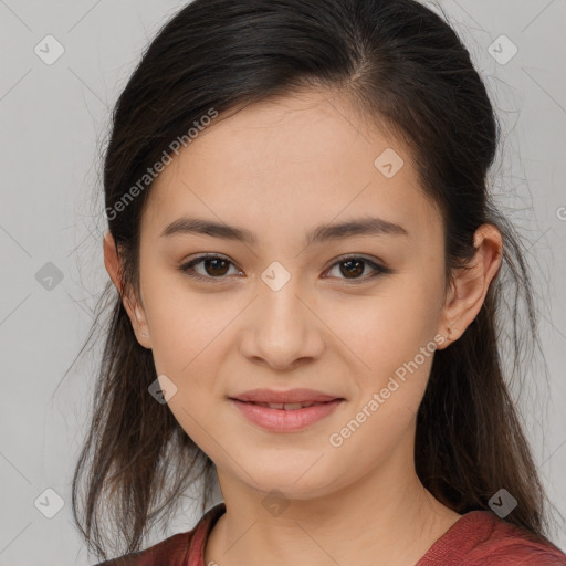
M 177 533 L 149 548 L 95 566 L 199 566 L 208 534 L 224 511 L 224 504 L 219 503 L 207 511 L 191 531 Z

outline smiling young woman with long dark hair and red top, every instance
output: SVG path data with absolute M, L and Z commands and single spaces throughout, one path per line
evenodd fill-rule
M 196 0 L 159 32 L 104 169 L 119 295 L 73 499 L 88 472 L 104 564 L 566 564 L 500 363 L 502 266 L 534 311 L 496 132 L 413 0 Z M 223 503 L 140 551 L 214 472 Z

